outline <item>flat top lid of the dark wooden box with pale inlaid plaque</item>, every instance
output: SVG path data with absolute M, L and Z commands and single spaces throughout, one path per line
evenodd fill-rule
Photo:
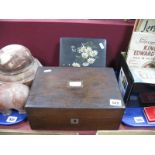
M 26 108 L 125 108 L 112 68 L 40 67 Z

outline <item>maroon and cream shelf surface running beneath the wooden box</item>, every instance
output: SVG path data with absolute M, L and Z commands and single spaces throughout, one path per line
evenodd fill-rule
M 137 134 L 153 134 L 155 135 L 155 128 L 133 128 L 120 124 L 118 130 L 99 130 L 99 131 L 63 131 L 63 130 L 32 130 L 29 122 L 24 121 L 12 126 L 2 126 L 0 125 L 0 135 L 3 134 L 44 134 L 44 135 L 137 135 Z

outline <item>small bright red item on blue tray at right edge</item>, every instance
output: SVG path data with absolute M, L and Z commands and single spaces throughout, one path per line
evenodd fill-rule
M 144 112 L 149 122 L 155 122 L 155 106 L 144 107 Z

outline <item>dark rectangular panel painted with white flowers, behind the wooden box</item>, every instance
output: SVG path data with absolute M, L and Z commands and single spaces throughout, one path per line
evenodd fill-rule
M 62 37 L 59 58 L 60 66 L 105 67 L 106 39 Z

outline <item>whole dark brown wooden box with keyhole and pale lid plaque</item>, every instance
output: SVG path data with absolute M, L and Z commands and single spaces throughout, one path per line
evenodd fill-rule
M 39 68 L 25 105 L 32 129 L 118 129 L 124 103 L 112 68 Z

